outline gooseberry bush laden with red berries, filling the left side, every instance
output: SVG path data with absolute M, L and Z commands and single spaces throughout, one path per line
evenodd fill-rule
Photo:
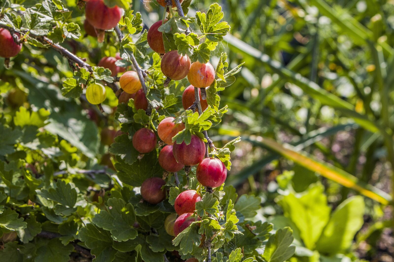
M 8 75 L 31 82 L 2 81 L 13 110 L 0 115 L 2 261 L 281 262 L 294 254 L 291 229 L 256 221 L 260 198 L 225 185 L 240 137 L 218 148 L 208 136 L 228 111 L 218 92 L 241 68 L 230 69 L 221 50 L 229 25 L 219 4 L 191 17 L 190 0 L 158 1 L 164 16 L 147 30 L 128 0 L 22 2 L 2 1 L 0 20 Z M 58 53 L 57 68 L 39 58 L 48 50 Z M 59 77 L 31 77 L 20 56 Z M 100 145 L 87 143 L 97 130 Z

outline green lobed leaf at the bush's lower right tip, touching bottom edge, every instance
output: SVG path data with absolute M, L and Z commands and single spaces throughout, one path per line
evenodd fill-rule
M 263 258 L 267 262 L 283 262 L 288 260 L 296 251 L 295 246 L 290 246 L 294 240 L 290 227 L 278 229 L 275 235 L 269 237 Z

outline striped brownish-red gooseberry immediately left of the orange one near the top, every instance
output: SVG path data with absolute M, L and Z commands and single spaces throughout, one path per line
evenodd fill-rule
M 188 75 L 190 58 L 188 55 L 178 54 L 178 50 L 172 50 L 163 56 L 160 68 L 166 77 L 181 80 Z

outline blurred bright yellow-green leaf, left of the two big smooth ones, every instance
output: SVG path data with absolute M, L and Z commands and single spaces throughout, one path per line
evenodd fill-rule
M 279 204 L 301 232 L 305 247 L 313 250 L 327 224 L 331 208 L 327 206 L 327 196 L 320 184 L 310 187 L 302 196 L 290 193 L 283 196 Z

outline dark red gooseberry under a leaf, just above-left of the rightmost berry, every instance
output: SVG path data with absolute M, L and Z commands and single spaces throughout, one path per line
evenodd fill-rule
M 205 156 L 204 141 L 196 135 L 191 135 L 189 145 L 186 145 L 185 141 L 180 144 L 174 143 L 173 154 L 175 159 L 185 166 L 197 165 Z

